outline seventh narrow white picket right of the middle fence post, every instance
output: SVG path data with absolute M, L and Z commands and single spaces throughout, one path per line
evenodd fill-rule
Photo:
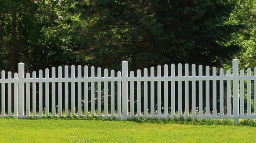
M 171 65 L 171 77 L 175 77 L 175 65 Z M 171 115 L 175 115 L 175 81 L 171 81 Z

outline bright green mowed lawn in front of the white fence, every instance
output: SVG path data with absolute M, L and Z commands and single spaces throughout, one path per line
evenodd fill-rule
M 243 124 L 243 125 L 242 125 Z M 255 121 L 0 118 L 0 142 L 256 142 Z

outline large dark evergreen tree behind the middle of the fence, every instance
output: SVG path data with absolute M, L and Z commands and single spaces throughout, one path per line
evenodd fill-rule
M 221 66 L 238 52 L 226 44 L 233 4 L 206 0 L 76 0 L 67 10 L 75 51 L 95 66 L 132 69 L 162 64 Z

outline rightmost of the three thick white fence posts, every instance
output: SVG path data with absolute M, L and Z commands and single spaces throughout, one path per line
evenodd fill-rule
M 238 97 L 238 60 L 233 60 L 233 115 L 234 123 L 239 121 L 239 97 Z

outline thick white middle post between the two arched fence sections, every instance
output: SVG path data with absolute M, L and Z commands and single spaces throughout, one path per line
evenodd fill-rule
M 128 62 L 122 61 L 122 114 L 123 119 L 127 119 L 128 115 Z

